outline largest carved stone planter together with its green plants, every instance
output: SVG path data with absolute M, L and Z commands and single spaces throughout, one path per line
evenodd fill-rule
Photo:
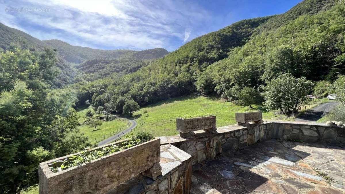
M 147 133 L 128 137 L 40 163 L 39 193 L 106 193 L 139 173 L 156 180 L 160 139 Z

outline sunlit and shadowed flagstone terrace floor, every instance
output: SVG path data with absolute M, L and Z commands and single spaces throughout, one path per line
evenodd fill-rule
M 193 166 L 192 194 L 345 193 L 345 147 L 268 140 Z

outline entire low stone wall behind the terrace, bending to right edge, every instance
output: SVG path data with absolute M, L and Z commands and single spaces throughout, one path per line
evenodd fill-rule
M 267 120 L 264 124 L 249 124 L 247 127 L 218 127 L 216 134 L 200 130 L 196 131 L 195 138 L 191 139 L 180 136 L 160 137 L 161 144 L 174 145 L 190 154 L 193 165 L 214 159 L 222 152 L 236 152 L 271 138 L 345 145 L 345 128 L 321 123 Z

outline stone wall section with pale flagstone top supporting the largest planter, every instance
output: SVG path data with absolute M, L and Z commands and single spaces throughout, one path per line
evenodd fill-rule
M 106 194 L 189 194 L 191 156 L 171 144 L 160 147 L 162 175 L 157 180 L 141 174 L 121 183 Z

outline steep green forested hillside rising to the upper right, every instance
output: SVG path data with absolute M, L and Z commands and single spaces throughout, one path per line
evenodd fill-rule
M 344 73 L 345 12 L 333 0 L 305 0 L 284 14 L 242 20 L 198 37 L 94 93 L 95 108 L 119 97 L 140 106 L 187 95 L 236 100 L 244 87 L 262 91 L 284 73 L 333 81 Z

